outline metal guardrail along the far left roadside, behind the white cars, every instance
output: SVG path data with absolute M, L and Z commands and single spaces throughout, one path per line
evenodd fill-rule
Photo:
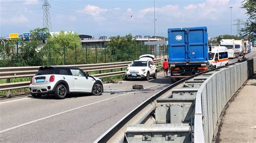
M 99 71 L 100 74 L 95 74 L 92 76 L 96 76 L 99 78 L 103 77 L 110 77 L 110 76 L 117 76 L 117 75 L 124 75 L 125 70 L 123 68 L 127 68 L 131 61 L 126 62 L 112 62 L 112 63 L 98 63 L 98 64 L 86 64 L 86 65 L 65 65 L 66 67 L 77 67 L 85 72 L 91 71 Z M 161 68 L 161 59 L 155 59 L 154 63 L 157 66 L 157 69 Z M 18 78 L 18 77 L 32 77 L 34 76 L 40 66 L 36 67 L 4 67 L 0 68 L 0 79 L 6 79 L 8 83 L 0 84 L 0 91 L 3 90 L 12 90 L 12 89 L 21 89 L 21 88 L 28 88 L 30 81 L 25 82 L 12 82 L 10 83 L 11 78 Z M 121 71 L 114 71 L 110 73 L 101 73 L 103 70 L 113 70 L 113 69 L 121 69 Z

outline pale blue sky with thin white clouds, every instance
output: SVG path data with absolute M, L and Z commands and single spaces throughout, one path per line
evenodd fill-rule
M 0 0 L 0 37 L 25 33 L 43 26 L 41 0 Z M 208 36 L 230 34 L 235 19 L 246 20 L 242 0 L 155 0 L 157 35 L 167 36 L 167 28 L 207 26 Z M 153 0 L 49 0 L 52 32 L 116 36 L 154 35 Z M 132 16 L 132 17 L 131 17 Z M 237 26 L 232 26 L 237 34 Z

